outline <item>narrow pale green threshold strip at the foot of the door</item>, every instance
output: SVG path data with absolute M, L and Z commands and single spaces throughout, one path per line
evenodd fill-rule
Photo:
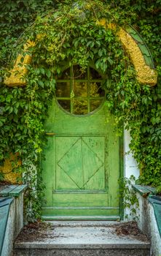
M 115 220 L 119 221 L 120 216 L 42 216 L 44 220 Z

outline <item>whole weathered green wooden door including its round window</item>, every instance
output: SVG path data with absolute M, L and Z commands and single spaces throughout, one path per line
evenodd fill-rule
M 120 145 L 102 82 L 94 68 L 77 65 L 57 78 L 45 124 L 44 219 L 119 218 Z

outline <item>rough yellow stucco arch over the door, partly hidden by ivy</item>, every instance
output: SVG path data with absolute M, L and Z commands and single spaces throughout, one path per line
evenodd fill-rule
M 106 22 L 106 19 L 102 19 L 98 22 L 99 25 L 104 26 L 106 29 L 116 29 L 117 26 L 114 24 L 109 24 Z M 125 31 L 125 29 L 117 28 L 117 36 L 119 37 L 120 41 L 122 42 L 123 47 L 127 51 L 127 53 L 130 56 L 131 61 L 133 62 L 133 65 L 136 69 L 136 75 L 137 79 L 142 84 L 149 84 L 150 86 L 154 86 L 157 84 L 157 72 L 155 69 L 152 69 L 148 65 L 146 65 L 146 62 L 144 60 L 144 56 L 141 53 L 140 48 L 138 47 L 136 41 L 133 39 L 133 37 L 130 36 L 130 34 Z M 38 35 L 37 39 L 42 37 L 42 35 Z M 24 45 L 24 53 L 25 51 L 31 47 L 34 46 L 35 42 L 28 41 Z M 13 67 L 11 71 L 11 75 L 9 78 L 5 78 L 4 83 L 7 86 L 25 86 L 26 81 L 24 78 L 24 75 L 27 73 L 27 69 L 25 67 L 25 64 L 31 63 L 31 56 L 28 54 L 25 55 L 24 60 L 22 62 L 22 65 L 20 67 L 20 59 L 23 57 L 23 55 L 18 55 L 17 60 L 15 61 L 15 66 Z

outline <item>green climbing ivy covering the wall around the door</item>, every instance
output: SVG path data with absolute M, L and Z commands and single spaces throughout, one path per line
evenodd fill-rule
M 161 1 L 140 0 L 135 4 L 130 0 L 44 0 L 41 4 L 1 0 L 0 160 L 3 165 L 4 159 L 17 153 L 13 170 L 22 173 L 29 187 L 28 220 L 41 214 L 44 185 L 39 161 L 46 143 L 44 121 L 55 79 L 67 64 L 79 64 L 82 72 L 95 64 L 104 74 L 106 106 L 120 132 L 123 125 L 130 129 L 130 149 L 141 170 L 139 180 L 161 191 L 160 5 Z M 138 83 L 116 31 L 99 25 L 101 18 L 119 26 L 129 23 L 140 31 L 157 66 L 157 86 Z M 27 65 L 27 86 L 7 87 L 4 75 L 28 39 L 36 45 L 28 49 L 33 59 Z

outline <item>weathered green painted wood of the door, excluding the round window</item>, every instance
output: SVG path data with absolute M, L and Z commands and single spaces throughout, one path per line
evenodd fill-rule
M 117 219 L 119 139 L 105 106 L 85 116 L 53 99 L 42 162 L 46 219 Z

